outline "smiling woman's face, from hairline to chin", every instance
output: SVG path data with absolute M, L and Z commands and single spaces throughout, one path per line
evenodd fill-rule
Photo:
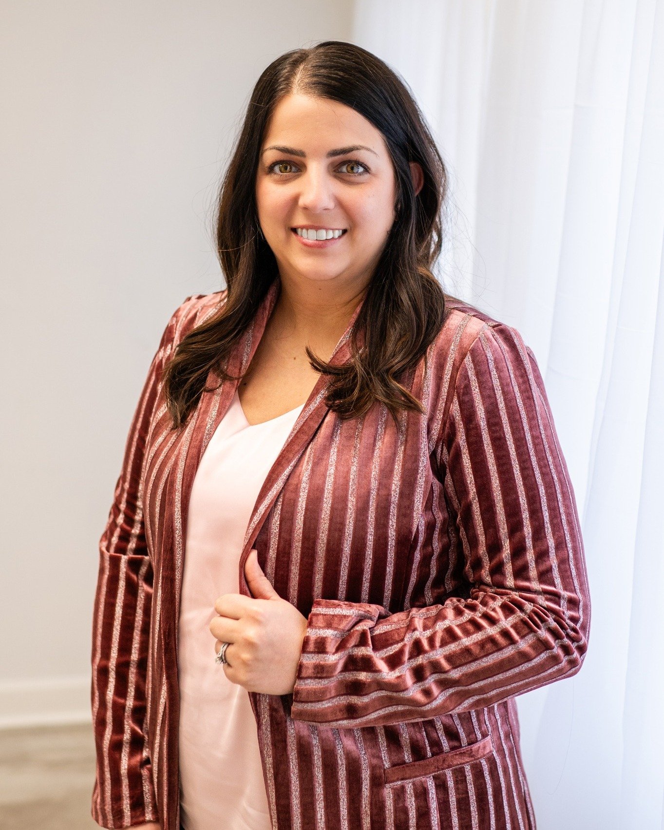
M 383 136 L 363 115 L 309 95 L 280 101 L 261 147 L 256 205 L 282 280 L 361 290 L 387 242 L 395 201 Z

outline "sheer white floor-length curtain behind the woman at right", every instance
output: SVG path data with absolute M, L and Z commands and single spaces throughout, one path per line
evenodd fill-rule
M 592 598 L 577 676 L 517 698 L 539 830 L 664 816 L 664 0 L 358 0 L 451 173 L 447 290 L 538 359 Z

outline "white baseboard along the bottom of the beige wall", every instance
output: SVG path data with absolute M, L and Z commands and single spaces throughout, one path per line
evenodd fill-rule
M 89 676 L 0 681 L 0 729 L 91 720 Z

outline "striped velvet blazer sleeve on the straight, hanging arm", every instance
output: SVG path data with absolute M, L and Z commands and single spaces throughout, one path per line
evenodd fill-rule
M 153 569 L 145 539 L 142 481 L 162 370 L 183 305 L 168 321 L 149 366 L 99 543 L 90 689 L 96 748 L 92 818 L 104 828 L 159 820 L 145 722 Z

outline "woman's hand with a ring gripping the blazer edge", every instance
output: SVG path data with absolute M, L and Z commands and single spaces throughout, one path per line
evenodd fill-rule
M 224 593 L 214 603 L 219 615 L 210 631 L 217 638 L 215 652 L 223 642 L 228 680 L 247 691 L 266 695 L 290 694 L 295 687 L 307 619 L 272 588 L 251 549 L 244 574 L 253 598 L 242 593 Z

